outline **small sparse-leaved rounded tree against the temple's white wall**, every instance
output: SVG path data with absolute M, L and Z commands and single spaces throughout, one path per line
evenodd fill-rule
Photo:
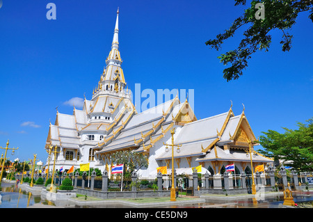
M 114 152 L 111 154 L 111 160 L 115 164 L 125 164 L 127 171 L 130 173 L 136 173 L 140 168 L 148 166 L 147 157 L 138 152 Z

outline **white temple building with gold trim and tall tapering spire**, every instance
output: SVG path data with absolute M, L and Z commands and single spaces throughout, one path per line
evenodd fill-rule
M 50 123 L 45 149 L 57 147 L 56 169 L 90 167 L 110 172 L 113 165 L 111 153 L 128 150 L 141 152 L 149 159 L 149 166 L 138 171 L 143 177 L 157 175 L 157 167 L 172 166 L 172 152 L 166 152 L 163 143 L 171 143 L 170 129 L 175 128 L 175 144 L 182 144 L 180 152 L 174 152 L 177 173 L 188 173 L 202 165 L 204 172 L 220 174 L 223 166 L 235 164 L 239 172 L 250 169 L 250 154 L 246 150 L 257 141 L 242 113 L 235 116 L 232 107 L 216 116 L 198 120 L 188 104 L 178 95 L 163 104 L 137 113 L 131 102 L 122 70 L 118 42 L 118 15 L 113 42 L 106 67 L 93 89 L 91 100 L 84 100 L 83 110 L 72 115 L 56 113 L 54 125 Z M 249 143 L 252 141 L 251 143 Z M 51 154 L 49 171 L 52 171 L 54 154 Z M 273 162 L 273 159 L 256 154 L 253 167 Z M 45 164 L 47 168 L 48 163 Z

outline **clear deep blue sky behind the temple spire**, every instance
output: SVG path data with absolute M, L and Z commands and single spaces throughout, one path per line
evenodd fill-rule
M 313 24 L 300 15 L 292 48 L 282 52 L 282 33 L 272 32 L 268 52 L 257 52 L 244 75 L 223 79 L 217 56 L 235 49 L 241 29 L 221 51 L 204 42 L 227 29 L 243 12 L 234 1 L 0 0 L 0 145 L 17 148 L 21 160 L 45 162 L 49 119 L 56 106 L 72 114 L 72 97 L 91 99 L 111 50 L 120 7 L 122 68 L 130 89 L 194 89 L 195 115 L 207 118 L 246 106 L 256 136 L 268 129 L 294 129 L 313 115 Z M 47 3 L 56 4 L 48 20 Z M 0 154 L 4 150 L 0 151 Z

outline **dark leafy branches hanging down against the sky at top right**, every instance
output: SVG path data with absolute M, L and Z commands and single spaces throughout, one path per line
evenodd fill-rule
M 259 10 L 255 8 L 257 3 L 264 4 L 264 19 L 256 19 L 255 14 Z M 239 4 L 245 6 L 246 0 L 235 0 L 235 6 Z M 263 49 L 268 51 L 271 45 L 270 31 L 279 30 L 282 32 L 282 40 L 280 41 L 282 51 L 291 49 L 293 35 L 289 34 L 289 30 L 296 24 L 298 14 L 305 11 L 310 12 L 309 18 L 313 22 L 313 0 L 251 1 L 250 8 L 247 8 L 243 15 L 235 19 L 229 29 L 216 35 L 215 39 L 208 40 L 205 44 L 219 50 L 223 42 L 232 37 L 241 26 L 248 26 L 248 29 L 243 33 L 244 38 L 241 40 L 239 47 L 218 56 L 220 63 L 224 65 L 232 64 L 229 68 L 223 70 L 223 77 L 227 81 L 239 79 L 243 74 L 243 70 L 248 66 L 248 59 L 255 51 Z

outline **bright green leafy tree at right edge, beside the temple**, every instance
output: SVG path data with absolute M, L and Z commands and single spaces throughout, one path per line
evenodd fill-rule
M 283 128 L 285 132 L 280 134 L 273 130 L 262 132 L 259 141 L 265 150 L 258 152 L 266 157 L 283 159 L 284 166 L 291 166 L 295 170 L 303 172 L 313 171 L 313 118 L 298 122 L 298 129 Z M 287 164 L 286 161 L 291 161 Z

